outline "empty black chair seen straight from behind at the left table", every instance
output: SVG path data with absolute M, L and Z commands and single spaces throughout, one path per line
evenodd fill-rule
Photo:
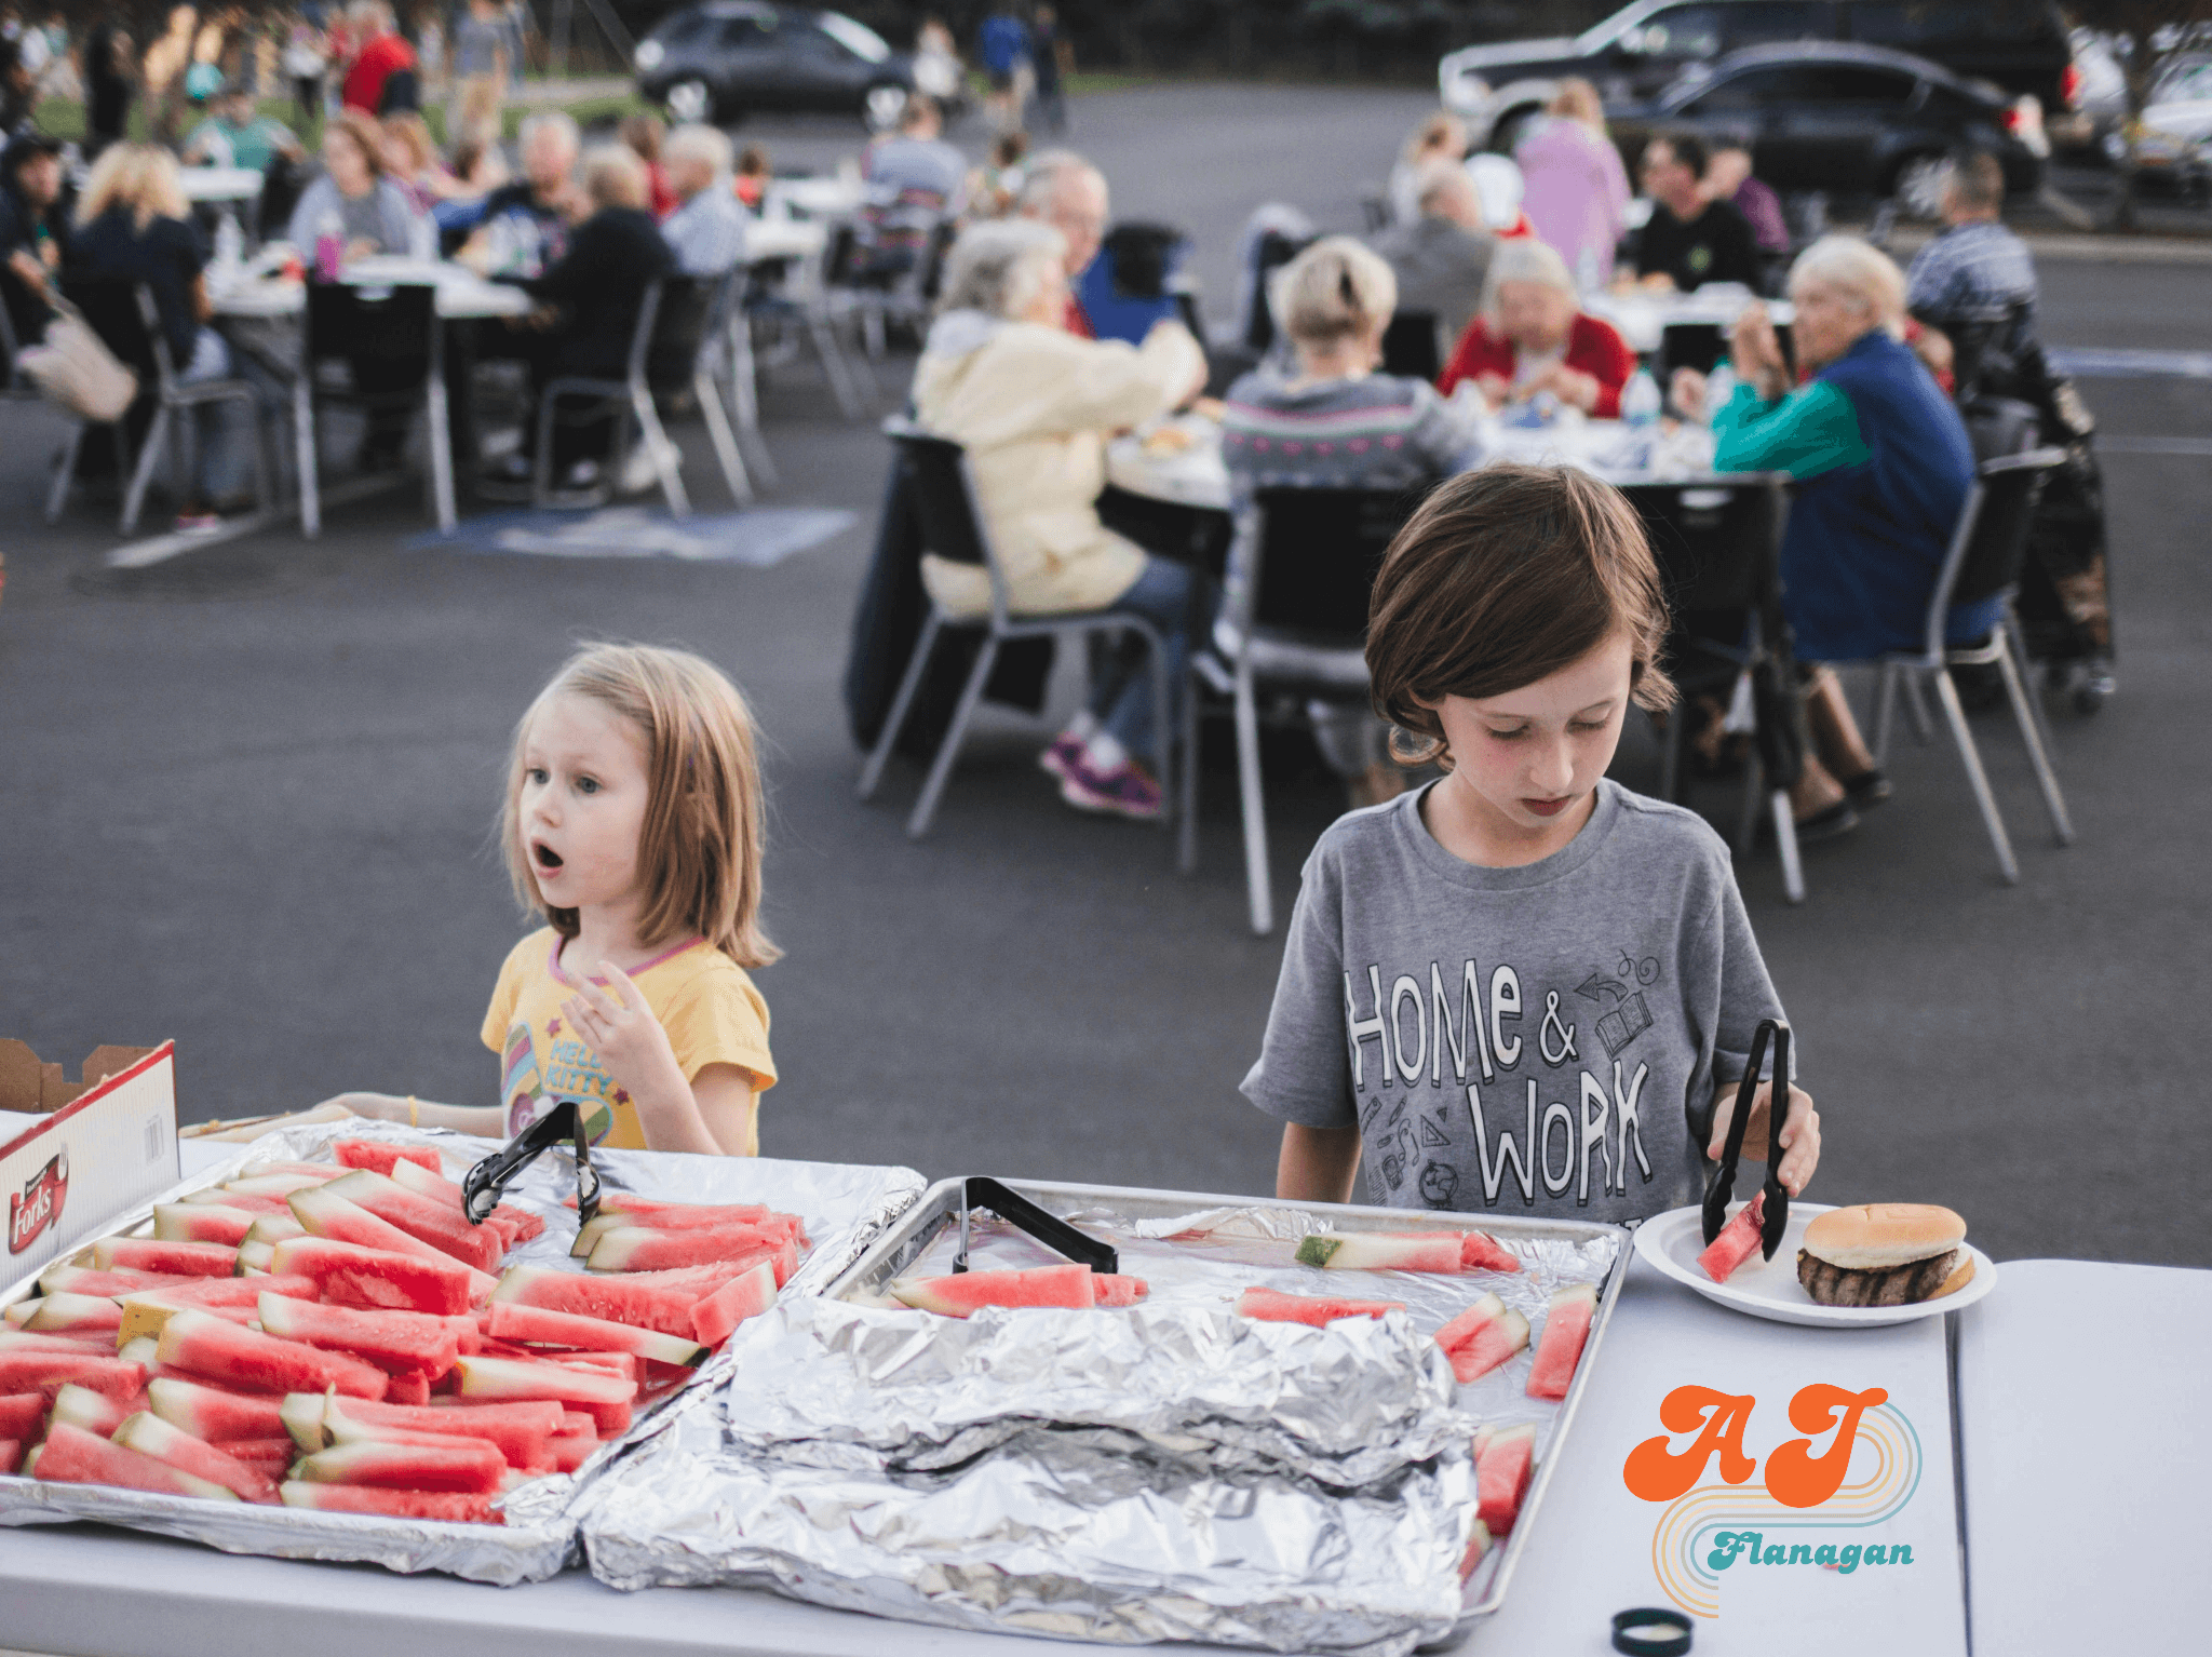
M 334 369 L 343 369 L 334 374 Z M 453 440 L 445 407 L 445 330 L 438 288 L 354 288 L 307 283 L 299 374 L 292 378 L 292 449 L 299 467 L 299 527 L 323 533 L 319 416 L 354 407 L 369 420 L 405 418 L 418 407 L 429 425 L 429 509 L 453 529 Z

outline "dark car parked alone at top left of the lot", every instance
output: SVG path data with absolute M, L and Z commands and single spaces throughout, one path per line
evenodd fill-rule
M 852 113 L 889 126 L 914 91 L 914 64 L 841 11 L 706 0 L 637 42 L 637 93 L 679 122 L 737 122 L 754 111 Z

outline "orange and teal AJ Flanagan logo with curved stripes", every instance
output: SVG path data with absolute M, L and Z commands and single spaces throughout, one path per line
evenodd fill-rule
M 1911 1542 L 1863 1540 L 1920 1489 L 1920 1434 L 1882 1387 L 1803 1387 L 1790 1400 L 1790 1422 L 1801 1434 L 1834 1431 L 1834 1438 L 1818 1456 L 1812 1438 L 1778 1445 L 1759 1484 L 1750 1484 L 1756 1462 L 1743 1453 L 1752 1407 L 1754 1398 L 1743 1394 L 1677 1387 L 1659 1405 L 1659 1425 L 1694 1431 L 1694 1442 L 1674 1451 L 1668 1438 L 1648 1438 L 1621 1469 L 1635 1496 L 1668 1504 L 1652 1529 L 1652 1571 L 1668 1599 L 1694 1617 L 1719 1617 L 1721 1573 L 1739 1562 L 1838 1575 L 1913 1562 Z M 1874 1453 L 1865 1473 L 1851 1478 L 1858 1445 Z M 1725 1482 L 1701 1487 L 1714 1458 Z

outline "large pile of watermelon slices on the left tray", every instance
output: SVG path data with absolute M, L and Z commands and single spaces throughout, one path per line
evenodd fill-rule
M 542 1219 L 471 1226 L 427 1146 L 334 1155 L 157 1206 L 4 1307 L 0 1473 L 498 1524 L 495 1498 L 575 1471 L 774 1305 L 805 1243 L 761 1206 L 608 1195 L 593 1263 L 608 1239 L 659 1261 L 641 1232 L 695 1259 L 493 1276 Z

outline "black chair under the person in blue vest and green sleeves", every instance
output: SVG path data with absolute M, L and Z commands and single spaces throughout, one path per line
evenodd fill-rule
M 2028 763 L 2035 768 L 2035 783 L 2044 794 L 2044 810 L 2051 814 L 2051 834 L 2059 845 L 2073 845 L 2073 819 L 2066 814 L 2066 796 L 2051 768 L 2048 737 L 2022 679 L 2028 653 L 2020 637 L 2020 617 L 2013 613 L 2035 509 L 2042 502 L 2044 484 L 2062 465 L 2066 465 L 2064 449 L 2028 449 L 1984 460 L 1975 469 L 1973 489 L 1966 493 L 1966 509 L 1951 535 L 1942 575 L 1929 595 L 1927 635 L 1918 650 L 1891 650 L 1880 659 L 1880 681 L 1874 692 L 1874 759 L 1880 763 L 1889 750 L 1889 715 L 1898 690 L 1916 692 L 1922 684 L 1933 686 L 1944 723 L 1951 726 L 1960 763 L 1966 768 L 1966 783 L 1973 788 L 1975 805 L 1982 807 L 1982 825 L 1989 830 L 1989 843 L 1997 852 L 1997 867 L 2004 872 L 2006 885 L 2020 885 L 2020 863 L 2013 858 L 1997 796 L 1989 788 L 1989 772 L 1982 770 L 1982 752 L 1966 728 L 1966 710 L 1960 706 L 1958 686 L 1951 684 L 1951 668 L 1997 668 L 2004 695 L 2013 704 L 2020 741 L 2028 748 Z M 1951 608 L 1991 597 L 2000 602 L 2000 617 L 1989 637 L 1982 644 L 1947 644 Z

